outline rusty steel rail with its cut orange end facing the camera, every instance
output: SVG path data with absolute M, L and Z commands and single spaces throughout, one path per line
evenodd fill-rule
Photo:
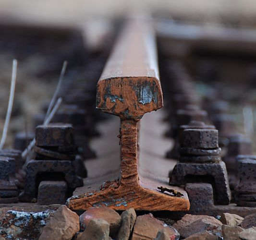
M 143 169 L 145 164 L 150 165 L 150 161 L 156 159 L 144 159 L 138 164 L 139 122 L 145 113 L 162 106 L 156 42 L 151 24 L 148 19 L 129 20 L 97 86 L 97 108 L 121 119 L 121 166 L 116 173 L 86 179 L 85 186 L 78 188 L 68 199 L 66 204 L 69 208 L 86 210 L 91 206 L 107 205 L 115 210 L 130 207 L 150 211 L 189 209 L 183 189 L 169 186 L 162 176 L 146 173 Z M 108 160 L 108 165 L 114 164 L 113 159 Z M 160 186 L 171 190 L 159 191 Z

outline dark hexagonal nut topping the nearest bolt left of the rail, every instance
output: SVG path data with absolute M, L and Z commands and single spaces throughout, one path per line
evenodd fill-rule
M 50 123 L 37 126 L 36 146 L 74 145 L 74 128 L 71 124 Z

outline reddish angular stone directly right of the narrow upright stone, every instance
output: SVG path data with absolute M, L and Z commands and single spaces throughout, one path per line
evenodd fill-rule
M 156 238 L 158 231 L 161 229 L 166 229 L 169 239 L 178 240 L 180 237 L 180 234 L 175 228 L 172 228 L 171 226 L 158 220 L 152 214 L 137 216 L 134 224 L 132 240 L 153 240 Z

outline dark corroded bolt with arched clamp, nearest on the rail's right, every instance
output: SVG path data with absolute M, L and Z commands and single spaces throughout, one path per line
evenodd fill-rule
M 208 182 L 218 204 L 229 204 L 231 193 L 225 163 L 219 156 L 218 130 L 184 129 L 180 161 L 171 172 L 170 184 Z

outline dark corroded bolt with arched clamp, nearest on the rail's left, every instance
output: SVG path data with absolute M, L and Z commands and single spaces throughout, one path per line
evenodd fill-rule
M 74 166 L 74 129 L 63 123 L 41 125 L 36 128 L 35 139 L 36 159 L 27 163 L 24 192 L 19 199 L 38 204 L 63 204 L 68 191 L 83 186 Z

